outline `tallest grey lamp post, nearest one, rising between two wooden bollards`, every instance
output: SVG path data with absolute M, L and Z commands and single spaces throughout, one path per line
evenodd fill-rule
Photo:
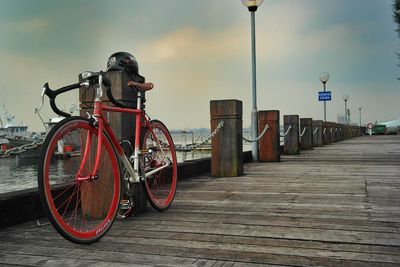
M 256 88 L 256 31 L 255 31 L 255 12 L 264 0 L 242 0 L 242 4 L 247 7 L 251 14 L 251 62 L 252 62 L 252 88 L 253 101 L 251 109 L 251 136 L 255 139 L 258 135 L 258 111 L 257 111 L 257 88 Z M 258 161 L 258 141 L 252 143 L 251 154 L 254 161 Z

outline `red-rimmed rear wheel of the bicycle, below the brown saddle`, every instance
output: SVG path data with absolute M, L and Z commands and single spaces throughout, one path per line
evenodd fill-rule
M 146 128 L 142 149 L 142 172 L 149 173 L 165 164 L 168 167 L 145 177 L 142 185 L 151 206 L 164 211 L 171 205 L 176 191 L 177 167 L 174 142 L 165 125 L 157 120 L 150 121 Z M 159 144 L 159 145 L 158 145 Z

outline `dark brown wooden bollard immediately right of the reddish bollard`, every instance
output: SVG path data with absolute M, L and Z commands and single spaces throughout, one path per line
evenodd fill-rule
M 283 153 L 286 155 L 299 154 L 299 115 L 284 115 L 283 124 L 284 133 L 287 133 L 284 139 Z

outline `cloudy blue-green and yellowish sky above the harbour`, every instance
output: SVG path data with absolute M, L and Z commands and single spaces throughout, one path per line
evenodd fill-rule
M 399 38 L 392 0 L 265 0 L 256 12 L 257 108 L 327 120 L 400 118 Z M 250 125 L 250 13 L 240 0 L 0 0 L 0 112 L 43 130 L 34 108 L 45 82 L 105 70 L 114 52 L 133 54 L 155 88 L 146 111 L 169 128 L 210 128 L 210 100 L 243 101 Z M 68 110 L 77 93 L 62 96 Z M 45 120 L 55 114 L 46 103 Z

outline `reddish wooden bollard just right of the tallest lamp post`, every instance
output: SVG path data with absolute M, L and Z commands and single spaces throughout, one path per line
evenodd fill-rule
M 259 141 L 259 161 L 277 162 L 281 160 L 279 129 L 279 110 L 263 110 L 258 113 L 258 131 L 262 133 L 266 125 L 269 128 Z

